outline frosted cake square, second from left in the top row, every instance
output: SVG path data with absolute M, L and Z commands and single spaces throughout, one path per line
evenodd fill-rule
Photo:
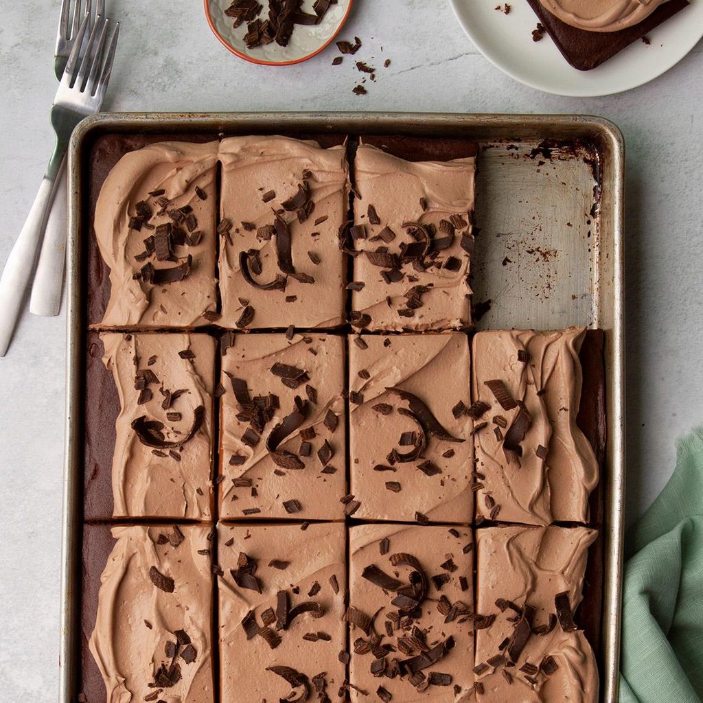
M 344 146 L 236 136 L 222 162 L 220 323 L 234 328 L 334 328 L 344 323 L 347 220 Z

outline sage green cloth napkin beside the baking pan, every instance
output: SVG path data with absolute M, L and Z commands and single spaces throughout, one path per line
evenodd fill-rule
M 703 429 L 626 538 L 620 703 L 703 701 Z

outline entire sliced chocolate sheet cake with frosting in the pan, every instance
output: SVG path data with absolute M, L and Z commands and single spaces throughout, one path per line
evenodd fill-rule
M 139 205 L 140 214 L 142 200 L 127 197 L 129 246 L 144 234 L 147 255 L 125 266 L 134 257 L 116 247 L 121 277 L 105 277 L 89 242 L 86 703 L 122 694 L 156 703 L 510 703 L 566 693 L 595 702 L 602 541 L 582 523 L 598 528 L 602 520 L 602 488 L 592 490 L 591 480 L 605 453 L 602 332 L 490 332 L 471 342 L 464 328 L 475 144 L 371 136 L 342 148 L 343 140 L 188 139 L 152 143 L 125 162 L 144 162 L 148 181 L 169 154 L 175 170 L 164 182 L 175 188 L 191 169 L 186 191 L 197 200 L 184 212 L 180 196 L 169 195 L 177 212 L 166 203 L 156 210 L 166 196 L 148 191 L 150 214 Z M 104 159 L 91 164 L 91 213 L 105 164 L 153 141 L 98 140 L 94 152 Z M 202 169 L 209 174 L 213 153 L 211 192 L 198 179 L 209 178 Z M 112 169 L 113 194 L 122 167 Z M 205 239 L 190 238 L 191 214 L 198 228 L 217 231 L 214 258 L 198 249 Z M 279 220 L 285 227 L 277 230 Z M 408 221 L 415 225 L 404 227 Z M 170 224 L 158 243 L 152 224 Z M 144 241 L 152 232 L 153 250 Z M 110 237 L 100 226 L 96 234 L 105 252 Z M 115 242 L 121 236 L 122 226 L 113 229 Z M 187 276 L 143 285 L 153 273 L 145 281 L 141 266 L 180 266 L 193 247 L 198 265 L 193 256 Z M 394 264 L 369 269 L 368 252 Z M 200 310 L 204 289 L 193 283 L 205 276 L 191 276 L 211 261 L 214 304 Z M 130 266 L 136 278 L 128 278 Z M 387 283 L 381 271 L 402 278 Z M 283 282 L 266 287 L 269 278 Z M 364 291 L 378 299 L 363 302 Z M 127 322 L 115 322 L 120 316 Z M 543 382 L 523 397 L 513 381 L 528 368 Z M 495 384 L 472 399 L 472 371 L 475 393 L 477 378 L 501 380 L 515 407 L 501 405 Z M 499 415 L 505 427 L 494 421 Z M 552 439 L 571 441 L 555 448 L 547 423 Z M 510 434 L 515 424 L 527 427 Z M 511 508 L 498 499 L 495 473 L 482 474 L 479 443 L 486 430 L 497 442 L 496 429 L 498 449 L 518 456 L 525 472 L 541 470 L 547 483 L 558 473 L 541 504 L 548 510 L 520 512 L 519 501 Z M 574 481 L 574 466 L 588 480 Z M 567 497 L 557 500 L 562 490 Z M 531 520 L 569 527 L 504 524 Z M 530 588 L 510 567 L 517 562 Z M 501 653 L 505 647 L 515 657 Z

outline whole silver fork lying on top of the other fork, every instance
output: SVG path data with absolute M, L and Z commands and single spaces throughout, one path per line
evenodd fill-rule
M 96 20 L 83 49 L 89 22 L 90 15 L 84 15 L 51 108 L 56 147 L 0 278 L 0 356 L 7 352 L 22 309 L 69 138 L 84 117 L 100 110 L 110 80 L 120 25 L 117 23 L 108 41 L 109 20 Z

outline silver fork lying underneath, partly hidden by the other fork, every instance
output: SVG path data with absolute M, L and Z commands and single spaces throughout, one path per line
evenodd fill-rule
M 65 70 L 84 15 L 90 15 L 93 25 L 100 18 L 104 18 L 105 0 L 96 0 L 94 6 L 93 0 L 86 0 L 85 8 L 82 0 L 62 0 L 53 57 L 53 71 L 58 81 Z M 46 219 L 44 241 L 41 244 L 37 270 L 34 272 L 30 297 L 30 312 L 34 315 L 51 317 L 58 315 L 61 309 L 63 273 L 66 265 L 67 201 L 67 175 L 64 164 L 59 169 L 53 205 Z

